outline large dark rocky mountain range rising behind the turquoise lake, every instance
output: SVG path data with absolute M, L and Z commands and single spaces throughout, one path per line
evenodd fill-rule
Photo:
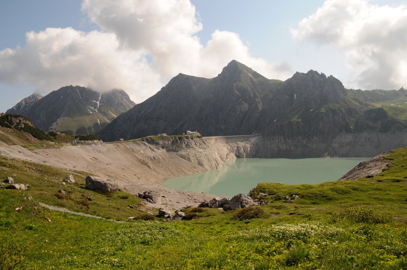
M 215 78 L 179 74 L 115 118 L 105 141 L 198 131 L 261 134 L 258 157 L 371 156 L 407 144 L 407 91 L 346 89 L 333 76 L 271 80 L 231 61 Z

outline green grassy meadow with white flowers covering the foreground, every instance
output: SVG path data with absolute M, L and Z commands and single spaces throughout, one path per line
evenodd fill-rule
M 407 148 L 388 156 L 373 178 L 288 186 L 259 184 L 271 203 L 241 210 L 192 208 L 190 220 L 146 219 L 133 195 L 99 194 L 68 172 L 0 157 L 0 176 L 30 185 L 0 189 L 3 268 L 135 269 L 405 269 L 407 268 Z M 71 193 L 68 193 L 68 188 Z M 70 198 L 59 198 L 64 189 Z M 82 194 L 93 201 L 82 205 Z M 299 195 L 293 203 L 276 195 Z M 26 200 L 28 195 L 34 200 Z M 38 202 L 110 219 L 50 211 Z M 136 206 L 135 209 L 127 205 Z M 20 212 L 16 211 L 21 207 Z M 51 222 L 49 222 L 49 219 Z

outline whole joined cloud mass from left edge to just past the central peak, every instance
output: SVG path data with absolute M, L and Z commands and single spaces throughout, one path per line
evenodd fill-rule
M 0 50 L 0 82 L 33 85 L 42 94 L 70 84 L 121 88 L 141 102 L 178 73 L 214 77 L 232 59 L 270 78 L 290 75 L 288 65 L 251 56 L 237 33 L 217 30 L 202 44 L 189 0 L 84 0 L 82 11 L 100 31 L 27 33 L 23 47 Z

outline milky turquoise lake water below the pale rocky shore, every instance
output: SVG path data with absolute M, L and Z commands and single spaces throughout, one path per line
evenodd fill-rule
M 234 196 L 248 193 L 257 183 L 288 185 L 336 181 L 366 158 L 237 159 L 221 169 L 175 177 L 164 182 L 177 190 Z

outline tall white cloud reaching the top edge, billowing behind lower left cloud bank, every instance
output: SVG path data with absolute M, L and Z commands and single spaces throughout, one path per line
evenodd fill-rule
M 84 0 L 82 10 L 102 29 L 115 33 L 123 46 L 151 54 L 163 78 L 180 72 L 213 77 L 232 59 L 271 78 L 289 75 L 287 65 L 252 57 L 236 33 L 217 30 L 202 45 L 196 36 L 202 24 L 189 0 Z

